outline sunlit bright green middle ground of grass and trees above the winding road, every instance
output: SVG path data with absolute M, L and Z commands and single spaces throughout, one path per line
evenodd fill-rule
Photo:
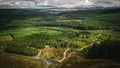
M 92 42 L 104 41 L 109 37 L 109 35 L 119 37 L 119 32 L 77 30 L 60 27 L 30 27 L 8 29 L 0 32 L 1 35 L 11 34 L 14 36 L 14 40 L 9 44 L 6 52 L 29 56 L 34 56 L 38 53 L 36 49 L 32 49 L 30 47 L 41 49 L 44 48 L 45 45 L 50 45 L 55 48 L 81 48 L 91 44 Z M 97 35 L 99 34 L 102 34 L 103 37 L 97 38 Z

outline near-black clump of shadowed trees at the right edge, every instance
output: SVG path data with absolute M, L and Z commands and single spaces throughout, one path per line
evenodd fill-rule
M 120 62 L 120 40 L 106 40 L 101 44 L 94 44 L 87 58 L 103 58 Z

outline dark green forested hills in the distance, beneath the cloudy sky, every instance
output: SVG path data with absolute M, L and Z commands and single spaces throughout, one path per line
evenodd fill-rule
M 109 11 L 110 10 L 110 11 Z M 0 10 L 0 29 L 21 27 L 69 27 L 82 30 L 120 30 L 119 9 L 78 10 L 50 14 L 40 10 Z M 111 12 L 114 11 L 114 12 Z M 116 13 L 115 13 L 116 12 Z M 60 21 L 71 20 L 71 21 Z M 82 20 L 81 22 L 74 20 Z

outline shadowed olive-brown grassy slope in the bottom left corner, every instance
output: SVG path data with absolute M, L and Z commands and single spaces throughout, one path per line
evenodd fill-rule
M 15 54 L 0 54 L 1 68 L 44 68 L 45 63 L 36 61 L 32 58 L 15 55 Z

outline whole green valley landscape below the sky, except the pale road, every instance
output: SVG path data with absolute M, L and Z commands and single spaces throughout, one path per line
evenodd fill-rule
M 3 63 L 16 63 L 10 68 L 18 64 L 24 64 L 19 68 L 44 68 L 42 61 L 33 60 L 40 50 L 39 58 L 58 61 L 68 48 L 66 59 L 51 68 L 120 67 L 120 9 L 51 12 L 0 10 L 2 68 L 8 68 Z M 21 61 L 25 58 L 25 62 Z

